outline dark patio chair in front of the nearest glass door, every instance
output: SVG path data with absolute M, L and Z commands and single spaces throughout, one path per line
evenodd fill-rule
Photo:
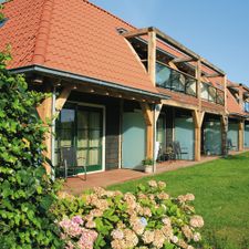
M 84 180 L 86 180 L 86 166 L 77 165 L 79 159 L 85 159 L 84 157 L 76 156 L 75 147 L 61 147 L 61 165 L 58 167 L 59 172 L 63 170 L 64 178 L 68 176 L 76 175 L 77 169 L 84 170 Z

